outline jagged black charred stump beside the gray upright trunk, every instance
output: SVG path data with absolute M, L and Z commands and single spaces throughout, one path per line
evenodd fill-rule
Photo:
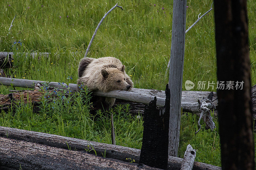
M 140 163 L 167 169 L 170 117 L 170 89 L 165 89 L 166 99 L 164 109 L 156 108 L 156 97 L 144 111 L 144 129 L 140 152 Z

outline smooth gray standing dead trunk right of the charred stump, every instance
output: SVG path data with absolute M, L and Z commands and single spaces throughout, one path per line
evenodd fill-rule
M 185 53 L 187 0 L 174 0 L 172 10 L 172 43 L 169 71 L 171 89 L 169 155 L 178 155 L 180 138 L 181 93 Z

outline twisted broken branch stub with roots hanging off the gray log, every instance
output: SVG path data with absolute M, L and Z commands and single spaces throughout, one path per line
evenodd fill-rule
M 199 129 L 198 131 L 196 131 L 196 133 L 199 132 L 201 129 L 201 118 L 203 118 L 204 120 L 206 129 L 211 129 L 213 131 L 213 129 L 215 128 L 215 123 L 212 121 L 211 111 L 213 112 L 213 110 L 216 109 L 216 106 L 212 103 L 212 97 L 213 91 L 209 93 L 206 99 L 203 99 L 201 101 L 198 100 L 198 109 L 199 111 L 201 111 L 201 115 L 198 120 Z

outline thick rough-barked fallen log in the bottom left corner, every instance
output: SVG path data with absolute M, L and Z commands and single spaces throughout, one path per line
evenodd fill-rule
M 0 146 L 0 169 L 157 170 L 143 164 L 1 137 Z

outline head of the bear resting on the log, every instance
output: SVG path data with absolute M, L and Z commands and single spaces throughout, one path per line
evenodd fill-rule
M 108 91 L 111 90 L 125 90 L 131 89 L 131 85 L 126 82 L 125 66 L 120 68 L 103 68 L 101 75 L 103 77 L 104 84 Z

